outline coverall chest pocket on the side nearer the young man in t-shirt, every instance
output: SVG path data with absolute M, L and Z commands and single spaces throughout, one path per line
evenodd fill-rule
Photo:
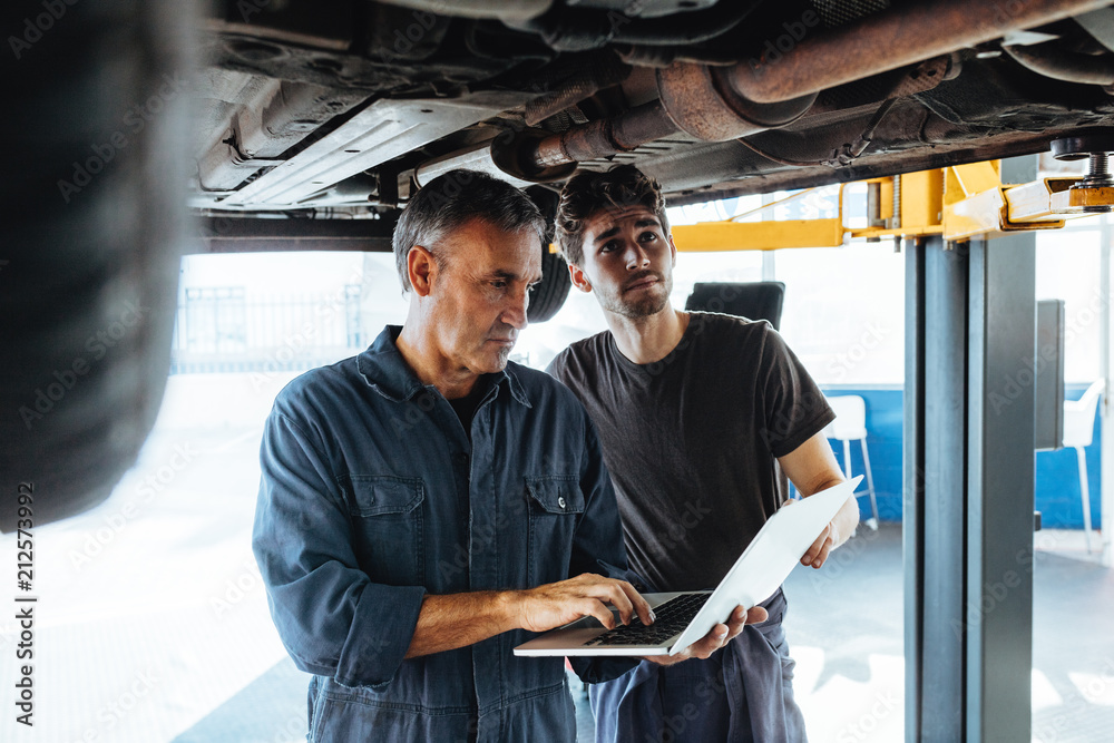
M 569 577 L 573 535 L 584 512 L 584 493 L 573 476 L 526 478 L 529 509 L 527 565 L 531 586 Z

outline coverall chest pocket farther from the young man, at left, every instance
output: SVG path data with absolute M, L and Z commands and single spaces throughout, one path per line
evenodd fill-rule
M 424 500 L 421 478 L 352 477 L 351 517 L 356 559 L 374 583 L 422 584 Z

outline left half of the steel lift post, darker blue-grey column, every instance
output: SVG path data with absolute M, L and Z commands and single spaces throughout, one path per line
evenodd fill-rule
M 916 671 L 910 741 L 960 741 L 964 735 L 967 486 L 966 245 L 942 237 L 919 241 L 909 271 L 919 290 L 907 315 L 906 409 L 907 586 L 906 658 Z M 919 498 L 919 502 L 918 502 Z M 910 502 L 911 501 L 911 502 Z M 906 528 L 909 528 L 907 521 Z M 910 595 L 911 594 L 911 595 Z M 915 627 L 915 628 L 913 628 Z M 911 639 L 911 642 L 909 642 Z

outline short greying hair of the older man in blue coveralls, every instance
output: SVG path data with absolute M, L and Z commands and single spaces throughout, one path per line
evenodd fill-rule
M 505 232 L 534 229 L 546 244 L 546 221 L 525 193 L 487 173 L 449 170 L 426 184 L 402 209 L 394 227 L 392 247 L 402 291 L 410 291 L 407 255 L 421 245 L 444 265 L 434 245 L 453 229 L 472 219 L 482 219 Z

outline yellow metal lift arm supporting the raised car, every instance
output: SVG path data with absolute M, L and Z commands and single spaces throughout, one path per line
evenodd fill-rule
M 1082 178 L 1042 178 L 1003 185 L 999 162 L 971 163 L 937 170 L 871 178 L 868 199 L 877 204 L 872 226 L 843 224 L 843 188 L 838 216 L 824 219 L 702 222 L 673 227 L 678 251 L 773 251 L 783 247 L 834 247 L 849 238 L 944 235 L 948 241 L 994 237 L 1024 229 L 1055 229 L 1065 218 L 1114 205 L 1114 188 L 1075 187 Z M 893 192 L 897 188 L 897 197 Z M 769 209 L 804 196 L 807 189 L 766 204 Z M 897 214 L 895 215 L 895 209 Z M 753 214 L 754 212 L 749 212 Z

